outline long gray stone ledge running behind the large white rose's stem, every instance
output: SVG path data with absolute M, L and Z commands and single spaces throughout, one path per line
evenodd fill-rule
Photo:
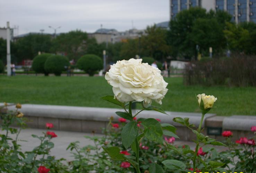
M 14 110 L 15 106 L 10 106 L 10 110 Z M 58 118 L 58 119 L 73 119 L 73 120 L 90 120 L 90 121 L 109 121 L 111 116 L 115 122 L 118 122 L 119 116 L 116 111 L 124 111 L 123 109 L 116 108 L 94 108 L 94 107 L 75 107 L 75 106 L 55 106 L 55 105 L 42 105 L 42 104 L 23 104 L 20 109 L 25 116 L 30 117 L 45 117 L 45 118 Z M 134 110 L 133 114 L 137 110 Z M 190 124 L 199 126 L 201 114 L 200 113 L 186 113 L 186 112 L 170 112 L 168 115 L 157 111 L 142 111 L 137 118 L 159 118 L 162 123 L 169 123 L 174 126 L 182 126 L 173 122 L 174 117 L 189 118 Z M 206 114 L 204 117 L 202 127 L 205 127 L 205 119 L 215 116 L 215 114 Z

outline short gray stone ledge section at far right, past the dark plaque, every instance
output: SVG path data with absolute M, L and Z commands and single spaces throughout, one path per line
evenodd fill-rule
M 233 115 L 223 119 L 223 129 L 250 131 L 251 126 L 256 126 L 256 116 Z

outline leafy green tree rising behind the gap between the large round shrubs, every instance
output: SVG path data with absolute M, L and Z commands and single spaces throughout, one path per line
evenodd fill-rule
M 80 30 L 62 33 L 53 41 L 53 51 L 63 53 L 71 59 L 78 58 L 86 53 L 87 34 Z

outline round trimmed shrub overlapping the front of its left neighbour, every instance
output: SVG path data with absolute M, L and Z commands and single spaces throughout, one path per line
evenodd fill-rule
M 51 55 L 47 58 L 44 64 L 44 69 L 48 73 L 54 73 L 56 76 L 60 76 L 62 71 L 65 71 L 69 65 L 68 58 L 62 55 Z

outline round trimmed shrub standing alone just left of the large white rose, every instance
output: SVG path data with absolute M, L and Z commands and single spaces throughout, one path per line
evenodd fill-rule
M 103 62 L 99 56 L 88 54 L 79 58 L 77 67 L 84 70 L 89 76 L 93 76 L 96 71 L 103 69 Z

